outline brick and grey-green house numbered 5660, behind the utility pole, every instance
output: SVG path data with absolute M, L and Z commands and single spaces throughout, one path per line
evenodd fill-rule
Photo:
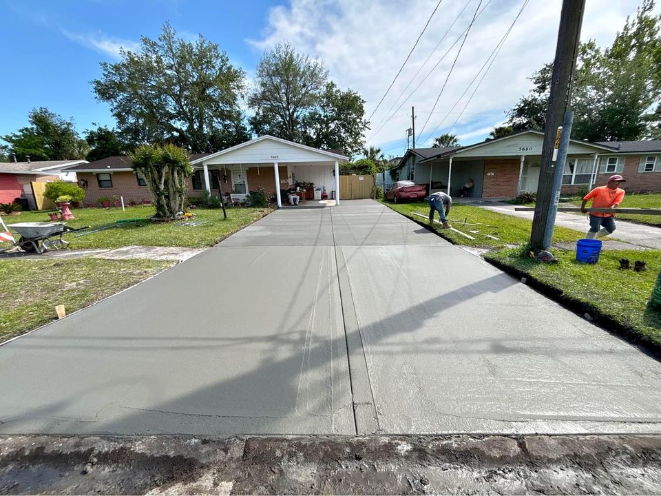
M 391 171 L 399 179 L 458 195 L 471 178 L 475 198 L 513 198 L 536 192 L 543 132 L 525 130 L 474 145 L 414 148 Z M 590 143 L 571 140 L 562 192 L 605 184 L 611 174 L 627 179 L 629 192 L 661 192 L 661 141 Z

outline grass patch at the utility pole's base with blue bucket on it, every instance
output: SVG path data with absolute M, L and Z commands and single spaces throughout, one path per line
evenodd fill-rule
M 556 250 L 557 265 L 537 262 L 521 249 L 503 249 L 485 254 L 487 260 L 512 267 L 560 291 L 563 297 L 585 305 L 585 311 L 617 322 L 625 331 L 661 348 L 661 313 L 647 309 L 661 269 L 661 251 L 602 251 L 598 264 L 580 264 L 573 251 Z M 620 270 L 620 258 L 645 260 L 645 272 Z

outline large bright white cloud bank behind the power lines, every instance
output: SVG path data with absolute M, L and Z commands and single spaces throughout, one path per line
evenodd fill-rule
M 492 0 L 487 6 L 470 31 L 422 138 L 427 138 L 451 111 L 454 103 L 459 100 L 466 86 L 471 83 L 487 56 L 509 28 L 523 1 Z M 330 70 L 331 79 L 340 87 L 350 87 L 363 96 L 367 101 L 366 112 L 369 115 L 406 59 L 436 3 L 436 0 L 291 0 L 291 6 L 271 8 L 262 38 L 250 40 L 249 43 L 262 51 L 272 48 L 276 43 L 289 41 L 297 50 L 318 56 Z M 470 0 L 457 25 L 450 30 L 439 50 L 434 52 L 428 64 L 404 93 L 405 97 L 468 26 L 478 3 L 479 0 Z M 482 5 L 486 3 L 483 1 Z M 639 3 L 639 0 L 587 1 L 582 39 L 594 38 L 600 45 L 610 44 L 627 15 L 635 14 Z M 476 141 L 470 138 L 484 136 L 493 125 L 502 123 L 503 112 L 510 109 L 514 102 L 529 90 L 530 82 L 527 78 L 541 68 L 543 63 L 553 59 L 561 4 L 561 0 L 532 0 L 525 8 L 496 63 L 452 129 L 452 132 L 468 140 L 465 143 Z M 373 131 L 377 130 L 386 117 L 394 116 L 386 121 L 386 125 L 376 134 L 373 131 L 367 132 L 370 138 L 368 144 L 389 146 L 391 149 L 396 145 L 405 147 L 404 132 L 410 127 L 412 105 L 415 105 L 416 131 L 420 136 L 423 124 L 430 116 L 432 105 L 457 54 L 459 43 L 400 110 L 395 112 L 399 106 L 397 103 L 392 112 L 387 111 L 464 5 L 464 2 L 447 0 L 441 3 L 401 76 L 373 116 Z M 450 130 L 470 94 L 472 89 L 434 132 L 434 136 Z M 425 141 L 425 144 L 428 145 L 430 141 L 431 138 Z

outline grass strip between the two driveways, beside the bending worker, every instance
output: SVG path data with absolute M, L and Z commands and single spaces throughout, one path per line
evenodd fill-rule
M 390 202 L 383 202 L 391 209 L 398 211 L 400 214 L 428 224 L 428 220 L 413 213 L 429 215 L 429 203 L 416 202 L 416 203 L 398 203 L 397 205 Z M 438 220 L 439 216 L 436 214 L 434 217 Z M 490 211 L 472 205 L 452 205 L 449 216 L 450 224 L 452 227 L 463 231 L 465 234 L 473 236 L 475 240 L 470 240 L 461 234 L 451 231 L 450 229 L 441 229 L 441 225 L 434 223 L 433 229 L 437 231 L 443 238 L 453 242 L 455 245 L 463 246 L 478 246 L 478 247 L 506 247 L 507 245 L 521 245 L 527 242 L 530 238 L 530 229 L 532 223 L 527 219 L 516 218 L 498 212 Z M 466 225 L 463 225 L 466 221 Z M 468 225 L 479 224 L 479 225 Z M 479 233 L 471 233 L 470 231 L 479 231 Z M 494 240 L 487 238 L 486 234 L 490 234 L 499 238 Z M 561 241 L 576 241 L 583 238 L 584 234 L 573 229 L 566 227 L 556 227 L 554 230 L 554 242 Z

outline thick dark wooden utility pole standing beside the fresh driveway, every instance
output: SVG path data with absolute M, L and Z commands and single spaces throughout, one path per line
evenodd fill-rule
M 571 99 L 571 78 L 576 68 L 578 56 L 578 43 L 580 40 L 580 25 L 583 22 L 585 0 L 563 0 L 563 10 L 560 13 L 560 28 L 558 29 L 558 44 L 556 57 L 553 63 L 551 77 L 551 94 L 549 108 L 546 113 L 546 127 L 544 130 L 544 143 L 542 146 L 542 162 L 539 170 L 539 183 L 537 187 L 537 200 L 535 214 L 532 220 L 530 245 L 533 249 L 545 248 L 545 232 L 548 236 L 548 225 L 553 229 L 555 223 L 558 196 L 560 190 L 554 191 L 554 176 L 556 167 L 564 169 L 565 161 L 554 159 L 554 147 L 558 126 L 563 123 L 565 112 L 569 108 Z M 569 126 L 569 130 L 571 126 Z M 569 136 L 563 136 L 569 143 Z M 557 158 L 561 158 L 558 156 Z M 558 172 L 561 174 L 562 172 Z M 555 207 L 555 208 L 554 208 Z M 550 242 L 549 242 L 550 245 Z

